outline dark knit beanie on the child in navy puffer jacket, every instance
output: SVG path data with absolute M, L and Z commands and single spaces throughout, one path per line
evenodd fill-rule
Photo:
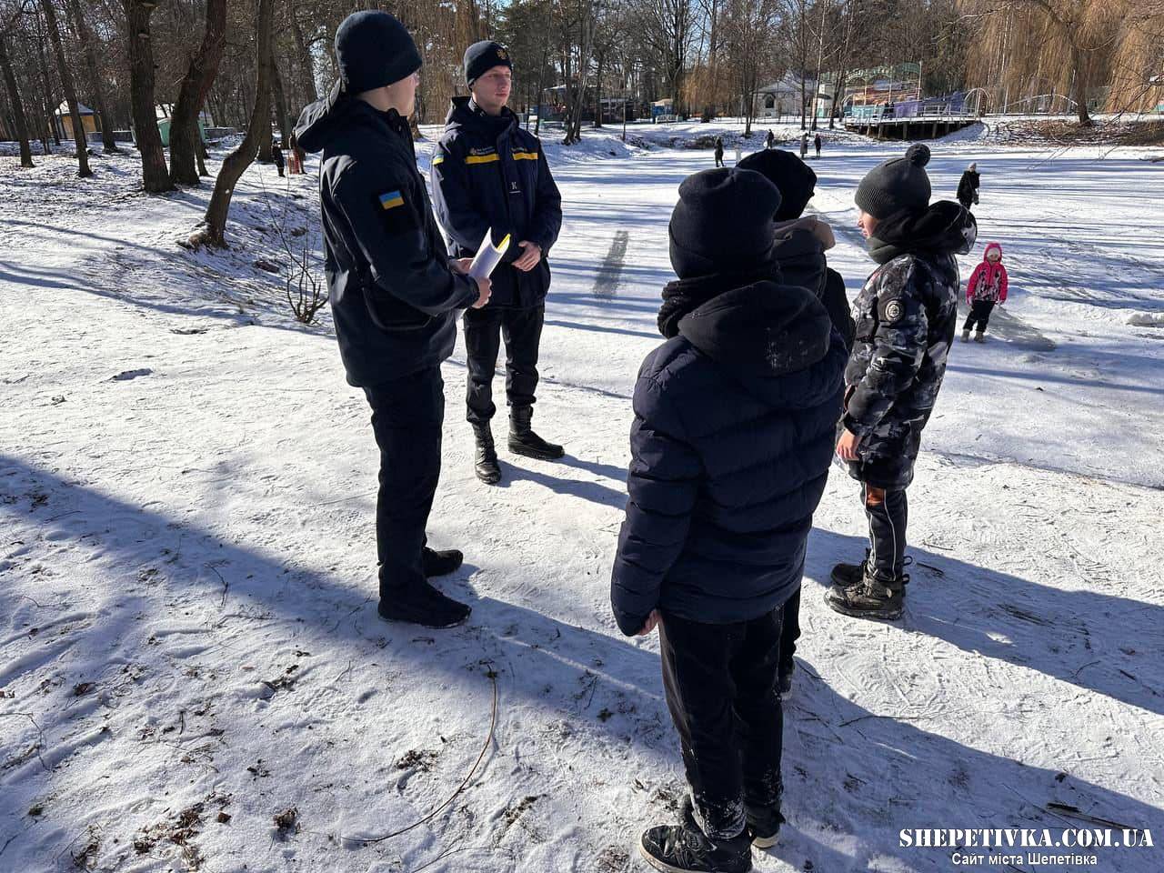
M 752 170 L 717 168 L 683 179 L 670 214 L 670 265 L 681 279 L 743 274 L 772 262 L 780 192 Z

